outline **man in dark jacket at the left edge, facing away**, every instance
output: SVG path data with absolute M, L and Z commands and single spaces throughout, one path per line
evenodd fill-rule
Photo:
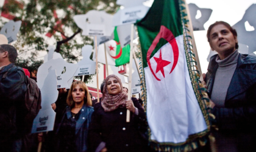
M 20 107 L 24 103 L 26 84 L 24 72 L 14 65 L 17 56 L 15 47 L 0 45 L 0 151 L 20 151 L 21 148 L 22 131 L 18 126 L 24 116 Z

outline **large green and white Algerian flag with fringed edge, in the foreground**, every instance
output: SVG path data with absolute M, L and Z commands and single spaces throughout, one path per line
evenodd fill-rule
M 192 85 L 193 72 L 189 72 L 192 58 L 185 52 L 182 3 L 154 1 L 148 14 L 137 22 L 149 140 L 161 151 L 195 149 L 203 143 L 209 126 L 199 91 Z

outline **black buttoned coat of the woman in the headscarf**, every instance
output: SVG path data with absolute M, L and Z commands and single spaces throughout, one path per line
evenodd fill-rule
M 90 146 L 93 151 L 101 142 L 109 152 L 113 151 L 147 151 L 146 141 L 141 133 L 146 132 L 146 119 L 143 108 L 137 98 L 132 98 L 138 108 L 138 116 L 130 112 L 130 122 L 126 122 L 126 108 L 105 112 L 101 104 L 94 106 L 94 113 L 89 128 Z

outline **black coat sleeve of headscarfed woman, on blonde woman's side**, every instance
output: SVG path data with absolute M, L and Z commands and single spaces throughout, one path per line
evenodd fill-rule
M 94 112 L 91 116 L 91 123 L 88 131 L 88 143 L 91 151 L 95 151 L 101 140 L 101 115 L 99 114 L 99 108 L 101 104 L 94 106 Z

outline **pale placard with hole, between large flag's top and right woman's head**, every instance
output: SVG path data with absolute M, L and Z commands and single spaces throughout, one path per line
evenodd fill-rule
M 205 30 L 204 24 L 208 21 L 210 16 L 212 15 L 212 9 L 201 9 L 197 7 L 196 4 L 190 3 L 188 4 L 190 9 L 190 17 L 193 24 L 193 30 Z M 201 17 L 196 19 L 197 12 L 201 12 Z

